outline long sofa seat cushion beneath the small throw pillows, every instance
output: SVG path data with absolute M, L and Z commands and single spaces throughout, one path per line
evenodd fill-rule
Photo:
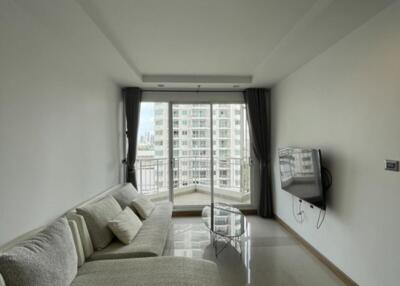
M 161 256 L 168 236 L 171 215 L 170 202 L 157 204 L 151 216 L 143 221 L 143 226 L 131 244 L 113 241 L 106 248 L 95 251 L 90 260 Z

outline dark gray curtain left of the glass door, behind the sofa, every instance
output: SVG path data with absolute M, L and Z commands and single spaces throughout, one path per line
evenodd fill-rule
M 126 181 L 132 183 L 137 188 L 135 161 L 136 161 L 136 142 L 139 128 L 140 101 L 142 90 L 138 87 L 122 88 L 122 96 L 125 101 L 125 115 L 128 137 L 128 156 L 126 158 Z

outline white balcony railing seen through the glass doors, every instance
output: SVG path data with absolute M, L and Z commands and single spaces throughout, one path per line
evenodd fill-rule
M 178 157 L 172 161 L 174 195 L 190 191 L 210 192 L 210 157 Z M 138 191 L 156 197 L 168 196 L 168 158 L 137 158 Z M 250 160 L 248 158 L 214 158 L 214 194 L 248 197 Z

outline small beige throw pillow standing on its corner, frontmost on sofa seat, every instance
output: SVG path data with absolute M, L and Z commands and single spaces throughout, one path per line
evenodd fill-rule
M 126 207 L 108 223 L 108 227 L 115 236 L 125 244 L 132 242 L 142 225 L 142 221 L 129 207 Z

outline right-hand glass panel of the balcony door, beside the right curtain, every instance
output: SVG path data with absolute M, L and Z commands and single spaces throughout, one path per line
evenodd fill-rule
M 244 104 L 213 104 L 214 202 L 250 204 L 250 138 Z

